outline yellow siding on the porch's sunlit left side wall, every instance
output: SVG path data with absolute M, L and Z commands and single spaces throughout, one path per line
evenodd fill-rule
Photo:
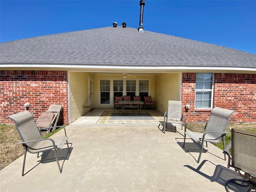
M 88 77 L 93 75 L 87 72 L 70 72 L 70 114 L 71 122 L 88 112 Z

